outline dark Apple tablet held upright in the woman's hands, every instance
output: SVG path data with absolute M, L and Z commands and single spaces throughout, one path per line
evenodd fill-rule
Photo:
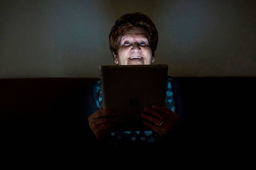
M 99 66 L 102 106 L 123 120 L 122 130 L 148 130 L 143 124 L 144 107 L 165 105 L 167 65 Z

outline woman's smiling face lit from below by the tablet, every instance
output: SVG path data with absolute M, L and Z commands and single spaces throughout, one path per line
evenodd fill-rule
M 155 61 L 143 28 L 131 28 L 119 40 L 114 62 L 119 65 L 149 65 Z

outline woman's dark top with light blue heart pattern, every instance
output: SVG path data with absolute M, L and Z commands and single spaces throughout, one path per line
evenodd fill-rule
M 94 102 L 98 109 L 102 104 L 101 82 L 98 80 L 93 85 Z M 170 78 L 167 78 L 165 104 L 167 108 L 175 112 L 174 97 Z M 123 143 L 155 143 L 158 140 L 158 134 L 154 131 L 126 131 L 112 132 L 109 144 L 120 145 Z

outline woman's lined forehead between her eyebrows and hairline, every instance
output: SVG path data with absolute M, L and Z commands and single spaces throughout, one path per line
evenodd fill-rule
M 131 28 L 121 37 L 121 41 L 127 38 L 146 39 L 146 31 L 143 28 Z

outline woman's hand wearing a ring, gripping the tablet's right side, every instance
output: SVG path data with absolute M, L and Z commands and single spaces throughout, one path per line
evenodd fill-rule
M 166 106 L 153 105 L 144 108 L 142 113 L 144 124 L 157 132 L 162 138 L 178 124 L 178 115 Z

